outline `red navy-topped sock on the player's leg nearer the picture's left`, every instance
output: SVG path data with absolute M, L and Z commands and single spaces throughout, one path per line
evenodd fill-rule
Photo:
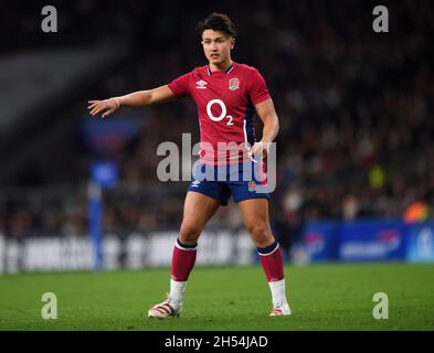
M 187 281 L 195 263 L 195 253 L 198 245 L 183 245 L 177 239 L 173 247 L 172 269 L 170 278 L 183 282 Z

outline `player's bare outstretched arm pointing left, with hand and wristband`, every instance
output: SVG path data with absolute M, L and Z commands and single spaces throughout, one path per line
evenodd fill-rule
M 95 116 L 102 113 L 106 118 L 115 113 L 120 106 L 145 107 L 154 104 L 165 103 L 174 98 L 171 89 L 166 85 L 149 90 L 138 90 L 120 97 L 113 97 L 104 100 L 89 100 L 87 109 Z

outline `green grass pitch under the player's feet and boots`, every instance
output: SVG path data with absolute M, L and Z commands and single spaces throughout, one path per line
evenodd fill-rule
M 197 267 L 180 318 L 148 319 L 165 299 L 169 269 L 0 276 L 0 330 L 434 330 L 434 265 L 286 266 L 293 314 L 269 318 L 271 293 L 258 266 Z M 57 319 L 44 320 L 44 292 Z M 374 320 L 375 292 L 389 319 Z

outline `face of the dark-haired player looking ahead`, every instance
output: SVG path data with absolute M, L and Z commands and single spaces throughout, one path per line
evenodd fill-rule
M 221 65 L 231 58 L 235 40 L 221 31 L 205 30 L 202 33 L 203 52 L 210 64 Z

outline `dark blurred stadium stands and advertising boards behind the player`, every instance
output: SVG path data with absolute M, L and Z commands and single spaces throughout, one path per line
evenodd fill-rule
M 237 25 L 233 60 L 262 72 L 279 116 L 271 216 L 285 259 L 434 260 L 431 1 L 383 1 L 389 33 L 372 30 L 374 1 L 51 1 L 57 33 L 41 30 L 45 4 L 0 3 L 0 272 L 98 265 L 88 185 L 100 160 L 119 173 L 103 191 L 103 268 L 170 264 L 188 184 L 158 181 L 156 151 L 182 132 L 199 140 L 194 105 L 105 121 L 86 106 L 204 65 L 194 25 L 212 11 Z M 236 206 L 221 207 L 199 265 L 254 254 Z

